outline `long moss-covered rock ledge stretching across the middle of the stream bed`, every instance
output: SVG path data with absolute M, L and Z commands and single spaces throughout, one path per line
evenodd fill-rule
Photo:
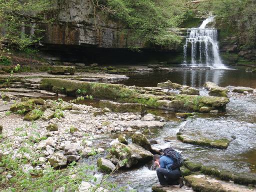
M 198 95 L 153 95 L 139 93 L 136 87 L 128 87 L 121 84 L 107 84 L 97 82 L 85 82 L 58 78 L 43 78 L 41 89 L 62 90 L 65 94 L 75 95 L 77 89 L 86 90 L 86 94 L 95 98 L 118 100 L 120 102 L 141 103 L 150 107 L 159 107 L 167 110 L 182 112 L 198 112 L 203 106 L 219 111 L 225 111 L 225 105 L 229 102 L 225 97 L 198 96 Z

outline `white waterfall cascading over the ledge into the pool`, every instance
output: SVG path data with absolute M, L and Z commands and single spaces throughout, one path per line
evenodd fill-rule
M 218 53 L 217 30 L 205 28 L 206 24 L 213 21 L 214 16 L 205 19 L 198 28 L 190 28 L 184 44 L 184 64 L 193 66 L 206 65 L 213 68 L 226 68 L 222 64 Z M 187 63 L 187 49 L 191 45 L 191 63 Z

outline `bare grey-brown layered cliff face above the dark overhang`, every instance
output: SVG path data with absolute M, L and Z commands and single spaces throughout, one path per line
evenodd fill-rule
M 129 32 L 121 31 L 118 21 L 94 8 L 90 0 L 57 0 L 54 24 L 44 24 L 43 43 L 83 45 L 104 48 L 146 47 L 132 41 Z M 52 16 L 52 15 L 51 15 Z

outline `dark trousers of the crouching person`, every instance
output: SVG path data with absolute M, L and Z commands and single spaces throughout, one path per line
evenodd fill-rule
M 161 185 L 176 185 L 178 184 L 177 180 L 181 175 L 179 168 L 169 171 L 165 168 L 157 168 L 156 174 Z

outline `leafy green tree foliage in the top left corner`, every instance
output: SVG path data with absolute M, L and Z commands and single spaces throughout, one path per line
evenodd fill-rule
M 49 9 L 51 0 L 0 0 L 0 49 L 2 42 L 8 42 L 19 49 L 40 40 L 40 30 L 34 21 L 44 22 L 42 12 Z M 33 34 L 25 34 L 25 28 L 33 28 Z

